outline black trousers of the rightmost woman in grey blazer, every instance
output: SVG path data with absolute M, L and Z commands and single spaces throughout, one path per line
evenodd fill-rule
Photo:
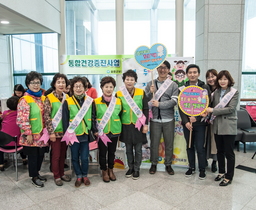
M 217 158 L 219 173 L 225 174 L 225 178 L 232 180 L 235 171 L 234 144 L 236 135 L 214 135 L 217 146 Z M 227 159 L 227 173 L 225 170 L 225 158 Z

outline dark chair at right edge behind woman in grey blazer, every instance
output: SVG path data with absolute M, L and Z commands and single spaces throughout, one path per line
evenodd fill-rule
M 246 153 L 246 142 L 256 142 L 256 127 L 252 127 L 250 116 L 246 110 L 238 110 L 237 117 L 236 141 L 244 144 L 244 153 Z

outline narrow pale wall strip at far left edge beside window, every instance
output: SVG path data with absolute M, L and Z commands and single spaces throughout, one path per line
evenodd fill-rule
M 0 99 L 12 95 L 12 72 L 10 67 L 7 36 L 0 35 Z

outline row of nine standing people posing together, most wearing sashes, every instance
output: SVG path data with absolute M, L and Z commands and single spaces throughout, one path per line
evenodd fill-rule
M 122 76 L 124 85 L 116 94 L 115 80 L 110 76 L 104 77 L 100 81 L 103 94 L 100 97 L 94 94 L 94 98 L 89 94 L 95 91 L 88 91 L 90 83 L 87 78 L 74 77 L 69 81 L 66 75 L 58 73 L 51 83 L 52 92 L 44 96 L 41 89 L 42 75 L 34 71 L 27 74 L 25 83 L 28 89 L 16 105 L 16 123 L 21 129 L 19 144 L 23 146 L 23 153 L 28 157 L 32 183 L 36 187 L 44 186 L 46 178 L 39 172 L 49 145 L 51 170 L 56 185 L 61 186 L 63 181 L 71 181 L 71 177 L 64 174 L 66 150 L 69 145 L 76 174 L 75 186 L 79 187 L 82 183 L 89 186 L 89 143 L 94 140 L 93 137 L 98 138 L 102 180 L 116 180 L 113 167 L 118 140 L 124 142 L 126 147 L 129 169 L 125 176 L 136 180 L 140 177 L 142 145 L 147 143 L 148 130 L 152 163 L 149 173 L 155 174 L 157 171 L 159 143 L 163 135 L 166 172 L 174 175 L 174 107 L 177 105 L 180 89 L 169 77 L 168 61 L 164 61 L 157 68 L 157 72 L 157 79 L 150 81 L 144 91 L 135 87 L 138 79 L 136 72 L 126 71 Z M 232 87 L 234 81 L 227 70 L 219 73 L 213 69 L 207 71 L 207 84 L 198 79 L 200 68 L 195 64 L 187 66 L 186 75 L 188 81 L 184 86 L 196 85 L 206 89 L 210 105 L 198 117 L 188 116 L 180 111 L 189 162 L 185 176 L 190 177 L 196 171 L 196 150 L 199 178 L 205 179 L 207 158 L 211 157 L 213 172 L 217 170 L 218 162 L 219 174 L 215 181 L 221 180 L 219 185 L 227 186 L 231 184 L 234 175 L 233 147 L 237 132 L 238 91 Z M 191 146 L 188 146 L 190 131 L 193 132 Z

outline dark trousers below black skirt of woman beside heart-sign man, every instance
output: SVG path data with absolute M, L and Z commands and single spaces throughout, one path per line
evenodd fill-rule
M 125 147 L 129 168 L 134 169 L 134 171 L 139 171 L 142 160 L 142 142 L 137 144 L 125 143 Z M 135 155 L 133 154 L 133 149 Z

